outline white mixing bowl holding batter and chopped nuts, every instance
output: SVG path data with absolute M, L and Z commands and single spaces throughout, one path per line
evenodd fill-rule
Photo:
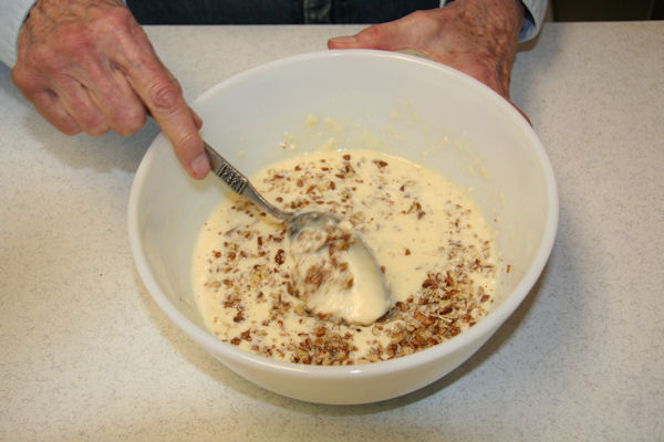
M 498 302 L 487 317 L 411 356 L 312 367 L 245 352 L 208 334 L 190 281 L 199 231 L 229 193 L 214 176 L 189 179 L 159 135 L 136 172 L 129 198 L 129 239 L 138 273 L 159 307 L 195 343 L 263 388 L 312 402 L 364 403 L 426 386 L 464 362 L 496 332 L 547 262 L 558 225 L 547 155 L 509 103 L 452 69 L 378 51 L 310 53 L 224 81 L 193 107 L 205 122 L 205 138 L 249 176 L 321 146 L 376 148 L 439 170 L 473 188 L 485 217 L 496 220 L 497 245 L 511 267 L 500 276 Z

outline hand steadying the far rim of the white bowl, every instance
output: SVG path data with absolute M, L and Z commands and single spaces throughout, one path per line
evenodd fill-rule
M 509 101 L 523 11 L 518 0 L 456 0 L 328 42 L 330 49 L 413 49 L 479 80 Z

